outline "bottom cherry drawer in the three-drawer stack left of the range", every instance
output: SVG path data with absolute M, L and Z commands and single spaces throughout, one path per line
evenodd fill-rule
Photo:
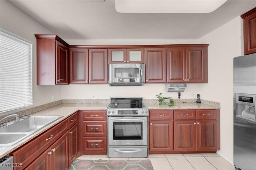
M 84 137 L 83 151 L 84 152 L 107 152 L 106 137 Z

